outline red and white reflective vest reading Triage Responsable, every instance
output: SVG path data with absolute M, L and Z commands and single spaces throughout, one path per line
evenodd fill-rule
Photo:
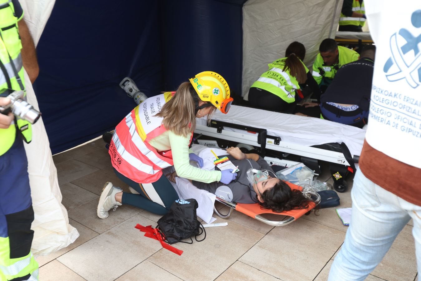
M 173 92 L 152 96 L 135 107 L 115 128 L 109 145 L 112 166 L 139 183 L 156 182 L 162 169 L 173 165 L 171 150 L 158 152 L 149 141 L 167 131 L 154 116 Z

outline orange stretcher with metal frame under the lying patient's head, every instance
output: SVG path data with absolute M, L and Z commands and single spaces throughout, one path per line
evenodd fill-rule
M 306 197 L 310 198 L 310 196 L 315 197 L 314 203 L 310 203 L 309 207 L 307 209 L 300 209 L 300 210 L 291 210 L 291 211 L 284 211 L 281 213 L 274 212 L 272 210 L 266 210 L 262 209 L 261 206 L 258 203 L 254 204 L 243 204 L 243 203 L 235 203 L 235 202 L 229 202 L 222 198 L 216 197 L 216 200 L 221 202 L 222 204 L 230 207 L 228 214 L 221 214 L 215 206 L 213 206 L 213 211 L 221 218 L 226 219 L 231 215 L 231 211 L 234 209 L 236 211 L 239 211 L 243 214 L 248 215 L 249 217 L 252 217 L 253 219 L 257 219 L 261 222 L 264 222 L 268 225 L 272 226 L 284 226 L 288 225 L 293 221 L 296 221 L 299 217 L 306 214 L 308 211 L 311 211 L 315 206 L 317 206 L 320 203 L 320 195 L 317 192 L 312 191 L 311 189 L 304 188 L 298 185 L 294 185 L 290 182 L 285 182 L 289 185 L 291 189 L 298 189 L 301 192 L 306 195 Z M 313 199 L 313 198 L 312 198 Z M 263 217 L 261 214 L 274 214 L 275 217 L 279 217 L 282 220 L 272 220 L 266 217 Z M 272 216 L 273 217 L 273 216 Z

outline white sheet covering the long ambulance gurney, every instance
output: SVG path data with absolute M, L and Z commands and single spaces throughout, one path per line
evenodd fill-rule
M 269 135 L 280 136 L 283 142 L 299 145 L 312 146 L 330 142 L 345 142 L 352 155 L 360 155 L 365 136 L 365 130 L 353 126 L 320 118 L 284 114 L 238 105 L 232 105 L 228 114 L 222 114 L 217 110 L 212 119 L 265 128 Z M 206 126 L 206 118 L 197 118 L 196 120 L 197 124 Z M 232 128 L 224 129 L 240 131 Z

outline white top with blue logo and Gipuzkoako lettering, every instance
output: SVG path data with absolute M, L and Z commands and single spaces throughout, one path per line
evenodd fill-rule
M 365 138 L 376 150 L 421 168 L 421 5 L 396 3 L 365 2 L 377 48 Z

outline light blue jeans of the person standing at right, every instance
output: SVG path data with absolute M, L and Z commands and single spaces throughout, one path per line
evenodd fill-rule
M 381 188 L 360 170 L 355 175 L 351 196 L 351 222 L 341 251 L 330 268 L 329 281 L 364 280 L 411 217 L 418 272 L 421 272 L 421 206 Z

